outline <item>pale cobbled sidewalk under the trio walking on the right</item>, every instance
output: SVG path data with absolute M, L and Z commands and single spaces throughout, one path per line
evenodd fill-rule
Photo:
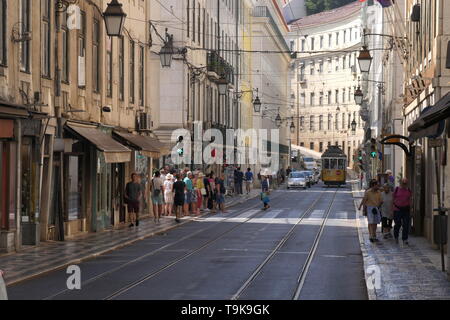
M 357 208 L 364 192 L 359 190 L 357 184 L 352 184 L 352 189 Z M 448 275 L 441 270 L 440 252 L 425 238 L 411 237 L 410 245 L 406 247 L 395 244 L 394 240 L 372 244 L 366 217 L 361 212 L 358 212 L 358 217 L 371 300 L 450 300 L 450 281 Z M 375 280 L 377 271 L 381 275 L 381 283 L 374 286 L 368 279 Z M 375 288 L 371 289 L 372 287 Z

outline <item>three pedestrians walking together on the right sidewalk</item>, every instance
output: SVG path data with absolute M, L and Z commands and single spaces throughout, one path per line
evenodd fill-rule
M 409 245 L 412 192 L 408 188 L 408 179 L 402 179 L 400 186 L 395 189 L 392 183 L 381 187 L 377 180 L 372 180 L 369 187 L 359 210 L 364 208 L 369 223 L 370 242 L 379 242 L 377 228 L 381 224 L 384 239 L 394 238 L 399 243 L 402 230 L 403 243 Z

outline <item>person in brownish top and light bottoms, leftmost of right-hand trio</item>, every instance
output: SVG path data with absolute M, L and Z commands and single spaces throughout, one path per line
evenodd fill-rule
M 381 223 L 381 206 L 383 199 L 381 197 L 380 188 L 377 180 L 370 182 L 370 189 L 366 191 L 364 199 L 359 206 L 359 210 L 363 206 L 367 207 L 367 221 L 369 223 L 370 242 L 379 242 L 377 238 L 377 228 Z

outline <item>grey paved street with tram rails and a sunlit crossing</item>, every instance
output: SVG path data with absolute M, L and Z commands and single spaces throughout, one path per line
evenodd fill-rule
M 277 191 L 65 270 L 8 288 L 10 299 L 366 300 L 349 189 Z M 130 231 L 132 232 L 132 231 Z

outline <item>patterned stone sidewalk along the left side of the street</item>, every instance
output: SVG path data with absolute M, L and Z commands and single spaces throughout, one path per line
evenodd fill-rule
M 245 203 L 259 194 L 259 190 L 253 190 L 249 196 L 227 197 L 227 208 Z M 203 216 L 206 214 L 208 212 Z M 6 284 L 13 285 L 168 232 L 198 218 L 201 217 L 185 217 L 177 224 L 174 217 L 164 217 L 159 225 L 153 219 L 146 219 L 141 221 L 136 231 L 124 226 L 119 230 L 91 233 L 65 242 L 43 242 L 20 253 L 0 255 L 0 269 L 5 272 Z

